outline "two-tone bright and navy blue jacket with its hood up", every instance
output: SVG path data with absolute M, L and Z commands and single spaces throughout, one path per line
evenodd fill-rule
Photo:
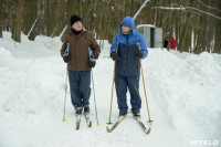
M 128 25 L 131 29 L 131 33 L 128 35 L 123 34 L 122 25 Z M 134 20 L 130 17 L 123 19 L 120 23 L 120 31 L 115 35 L 115 39 L 110 46 L 110 53 L 118 44 L 118 60 L 116 61 L 115 74 L 122 76 L 139 76 L 140 64 L 139 59 L 136 56 L 138 50 L 137 43 L 140 44 L 141 51 L 145 53 L 143 59 L 148 54 L 146 42 L 144 36 L 136 32 Z M 116 52 L 116 51 L 115 51 Z

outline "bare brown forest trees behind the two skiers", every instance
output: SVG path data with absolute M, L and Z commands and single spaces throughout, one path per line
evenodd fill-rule
M 123 18 L 134 17 L 145 0 L 0 0 L 0 38 L 10 31 L 21 42 L 21 32 L 62 36 L 70 17 L 78 14 L 97 40 L 108 40 L 119 31 Z M 221 0 L 150 0 L 135 24 L 154 24 L 164 39 L 175 36 L 180 52 L 221 53 Z M 99 42 L 102 45 L 102 41 Z

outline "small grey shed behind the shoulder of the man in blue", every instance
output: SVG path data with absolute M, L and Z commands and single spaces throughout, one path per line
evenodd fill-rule
M 151 24 L 139 24 L 136 31 L 145 36 L 147 48 L 162 48 L 162 29 Z

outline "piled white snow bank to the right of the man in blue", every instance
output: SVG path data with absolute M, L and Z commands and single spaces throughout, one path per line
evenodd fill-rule
M 176 53 L 177 54 L 177 53 Z M 168 51 L 150 50 L 147 82 L 151 94 L 150 108 L 158 105 L 172 128 L 185 140 L 219 139 L 221 119 L 221 66 L 212 54 L 203 52 L 178 57 Z M 155 104 L 159 103 L 159 104 Z M 160 115 L 160 116 L 162 116 Z M 158 117 L 158 116 L 154 116 Z

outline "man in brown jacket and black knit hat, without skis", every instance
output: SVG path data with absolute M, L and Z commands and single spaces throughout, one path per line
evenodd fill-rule
M 95 66 L 95 59 L 98 57 L 101 50 L 93 33 L 83 27 L 82 18 L 72 15 L 71 27 L 63 39 L 61 55 L 67 63 L 72 104 L 80 115 L 83 108 L 84 113 L 90 113 L 91 70 Z M 70 53 L 66 57 L 67 43 Z M 91 56 L 88 49 L 93 51 Z

